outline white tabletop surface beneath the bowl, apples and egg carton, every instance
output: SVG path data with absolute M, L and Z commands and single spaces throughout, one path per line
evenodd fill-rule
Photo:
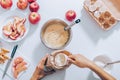
M 14 5 L 11 10 L 19 10 L 16 7 L 16 1 L 13 0 Z M 39 13 L 41 21 L 38 25 L 30 25 L 28 36 L 19 43 L 19 51 L 29 60 L 32 68 L 29 73 L 23 75 L 20 80 L 29 80 L 35 66 L 39 60 L 46 54 L 51 53 L 52 50 L 46 48 L 40 40 L 40 29 L 43 24 L 53 18 L 60 18 L 65 20 L 65 12 L 73 9 L 77 13 L 77 18 L 81 19 L 81 23 L 76 25 L 73 30 L 73 37 L 70 44 L 65 48 L 73 54 L 81 53 L 87 58 L 93 58 L 100 54 L 106 54 L 112 60 L 120 59 L 120 23 L 109 31 L 103 31 L 98 24 L 91 18 L 91 16 L 84 10 L 84 0 L 37 0 L 40 4 Z M 0 8 L 0 14 L 6 10 Z M 25 14 L 29 13 L 29 9 L 22 11 Z M 9 44 L 9 43 L 8 43 Z M 13 45 L 13 44 L 9 44 Z M 120 64 L 114 65 L 112 75 L 120 79 Z M 2 72 L 0 72 L 0 75 Z M 5 80 L 11 80 L 6 76 Z M 74 65 L 70 66 L 66 71 L 59 71 L 55 74 L 45 77 L 43 80 L 97 80 L 91 74 L 89 69 L 81 69 Z

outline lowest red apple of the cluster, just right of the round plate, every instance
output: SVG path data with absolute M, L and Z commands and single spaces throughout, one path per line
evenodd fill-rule
M 40 21 L 40 14 L 37 12 L 31 12 L 29 14 L 29 21 L 32 24 L 37 24 Z

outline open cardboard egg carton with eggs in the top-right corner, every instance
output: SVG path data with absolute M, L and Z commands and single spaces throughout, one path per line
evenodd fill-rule
M 120 20 L 120 6 L 114 6 L 115 3 L 115 0 L 85 0 L 84 8 L 102 29 L 109 30 Z

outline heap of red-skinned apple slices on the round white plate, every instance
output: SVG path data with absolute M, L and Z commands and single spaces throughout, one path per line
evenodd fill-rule
M 13 24 L 10 22 L 3 27 L 3 34 L 11 40 L 22 37 L 26 31 L 25 22 L 26 18 L 14 17 Z

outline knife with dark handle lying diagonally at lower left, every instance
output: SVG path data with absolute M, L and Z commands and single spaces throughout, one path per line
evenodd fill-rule
M 5 67 L 5 71 L 4 71 L 4 73 L 3 73 L 2 79 L 3 79 L 3 78 L 5 77 L 5 75 L 6 75 L 6 72 L 7 72 L 8 68 L 9 68 L 9 66 L 10 66 L 10 63 L 12 62 L 12 59 L 13 59 L 15 53 L 16 53 L 17 48 L 18 48 L 18 45 L 15 45 L 14 48 L 13 48 L 13 50 L 12 50 L 11 57 L 10 57 L 10 59 L 9 59 L 8 62 L 7 62 L 7 65 L 6 65 L 6 67 Z

